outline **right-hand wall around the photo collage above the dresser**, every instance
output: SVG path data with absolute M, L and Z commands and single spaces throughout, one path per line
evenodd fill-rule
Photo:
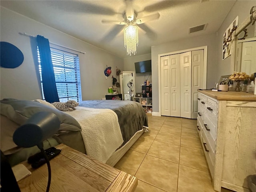
M 231 68 L 231 60 L 230 57 L 227 57 L 226 59 L 222 60 L 222 42 L 223 42 L 223 34 L 230 26 L 230 24 L 234 21 L 236 16 L 238 16 L 238 26 L 241 26 L 242 22 L 250 15 L 250 9 L 252 6 L 256 6 L 256 1 L 247 1 L 247 0 L 239 0 L 236 1 L 230 12 L 228 13 L 228 16 L 220 26 L 218 30 L 218 46 L 217 46 L 217 69 L 218 69 L 218 75 L 216 78 L 219 78 L 222 75 L 229 75 L 234 72 L 234 69 Z M 218 80 L 218 79 L 216 79 Z

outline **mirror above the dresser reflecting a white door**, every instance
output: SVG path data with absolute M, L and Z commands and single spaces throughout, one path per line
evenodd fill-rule
M 236 36 L 234 71 L 256 72 L 256 21 L 251 22 Z

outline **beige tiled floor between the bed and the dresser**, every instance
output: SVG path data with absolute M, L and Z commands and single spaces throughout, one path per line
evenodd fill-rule
M 115 165 L 138 178 L 135 192 L 214 192 L 196 120 L 148 114 L 148 124 Z

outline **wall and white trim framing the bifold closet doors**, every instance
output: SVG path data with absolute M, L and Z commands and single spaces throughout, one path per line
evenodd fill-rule
M 216 58 L 216 34 L 208 34 L 204 36 L 192 37 L 188 39 L 177 40 L 173 42 L 166 42 L 166 44 L 152 46 L 152 100 L 153 112 L 159 112 L 158 105 L 158 54 L 168 52 L 175 52 L 196 48 L 201 46 L 208 46 L 208 60 L 207 60 L 207 85 L 206 88 L 212 88 L 215 83 L 217 73 L 217 58 Z

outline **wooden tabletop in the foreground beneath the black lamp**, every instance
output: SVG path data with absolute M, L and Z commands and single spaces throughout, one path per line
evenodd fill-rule
M 134 176 L 99 162 L 64 144 L 56 146 L 61 153 L 50 160 L 52 180 L 50 191 L 64 192 L 133 192 L 138 184 Z M 32 174 L 18 182 L 22 192 L 44 192 L 48 182 L 48 169 L 44 164 L 34 169 L 23 164 Z

